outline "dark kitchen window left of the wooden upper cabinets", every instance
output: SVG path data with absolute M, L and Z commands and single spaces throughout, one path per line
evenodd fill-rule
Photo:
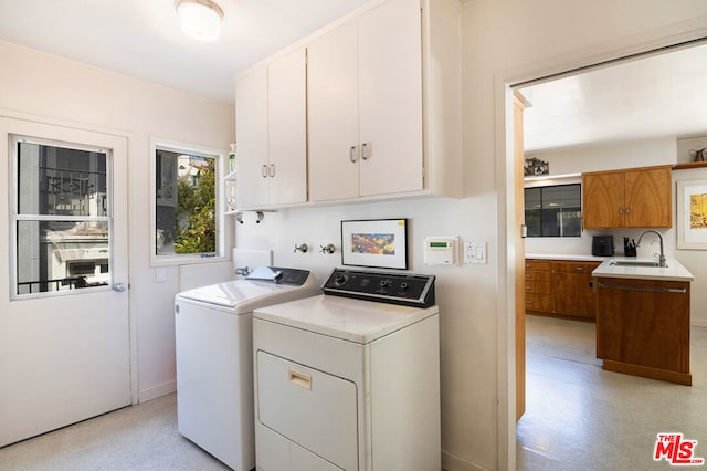
M 528 237 L 581 237 L 581 185 L 525 189 Z

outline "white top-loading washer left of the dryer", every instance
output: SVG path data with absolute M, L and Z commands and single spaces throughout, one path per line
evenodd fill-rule
M 253 310 L 319 293 L 308 271 L 271 266 L 176 296 L 181 435 L 236 471 L 255 467 Z

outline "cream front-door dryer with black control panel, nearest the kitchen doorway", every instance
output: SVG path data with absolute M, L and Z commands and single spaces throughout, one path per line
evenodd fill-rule
M 256 469 L 439 471 L 434 276 L 335 270 L 255 310 Z

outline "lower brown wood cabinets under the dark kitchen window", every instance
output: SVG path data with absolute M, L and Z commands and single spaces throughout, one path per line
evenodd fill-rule
M 591 281 L 597 266 L 599 262 L 526 259 L 526 312 L 593 320 Z

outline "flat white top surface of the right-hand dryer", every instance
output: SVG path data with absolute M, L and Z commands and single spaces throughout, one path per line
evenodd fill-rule
M 436 305 L 422 308 L 320 295 L 258 307 L 253 317 L 368 344 L 437 313 Z

